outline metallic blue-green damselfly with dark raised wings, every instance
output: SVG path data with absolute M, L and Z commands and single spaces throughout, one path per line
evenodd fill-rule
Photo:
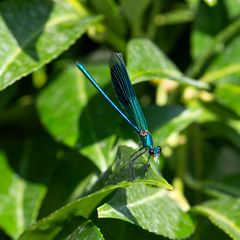
M 88 73 L 86 68 L 81 63 L 77 63 L 77 67 L 85 75 L 85 77 L 139 136 L 142 146 L 138 151 L 130 156 L 131 160 L 134 161 L 144 153 L 148 152 L 148 164 L 151 156 L 153 156 L 154 160 L 158 162 L 161 148 L 160 146 L 153 146 L 152 136 L 148 130 L 147 122 L 133 90 L 133 86 L 130 82 L 122 54 L 113 53 L 109 61 L 109 66 L 113 89 L 116 93 L 122 110 L 120 110 L 120 108 L 106 95 L 93 77 Z

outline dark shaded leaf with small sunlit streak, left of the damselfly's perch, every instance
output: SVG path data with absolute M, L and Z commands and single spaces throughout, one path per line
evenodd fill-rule
M 78 152 L 68 148 L 59 150 L 39 217 L 47 216 L 84 195 L 96 181 L 97 172 L 93 163 Z

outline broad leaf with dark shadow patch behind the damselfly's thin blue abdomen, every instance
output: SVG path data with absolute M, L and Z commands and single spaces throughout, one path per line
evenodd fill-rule
M 104 91 L 111 87 L 107 66 L 87 69 Z M 113 160 L 114 133 L 120 119 L 76 67 L 59 74 L 39 95 L 37 106 L 43 125 L 56 140 L 78 149 L 101 171 L 107 169 Z

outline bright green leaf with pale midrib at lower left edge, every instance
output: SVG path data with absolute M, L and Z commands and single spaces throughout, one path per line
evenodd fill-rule
M 7 155 L 0 152 L 0 227 L 17 238 L 35 222 L 46 188 L 18 176 L 7 160 Z

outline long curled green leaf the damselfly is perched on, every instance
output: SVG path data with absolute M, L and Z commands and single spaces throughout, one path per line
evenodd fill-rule
M 129 172 L 129 154 L 132 152 L 129 148 L 120 148 L 118 158 L 112 168 L 91 189 L 91 191 L 100 190 L 84 196 L 41 219 L 26 230 L 20 239 L 29 239 L 33 234 L 39 234 L 42 239 L 51 236 L 50 239 L 52 239 L 57 234 L 60 234 L 60 229 L 75 217 L 88 218 L 96 206 L 107 195 L 118 188 L 126 188 L 133 184 L 144 183 L 151 187 L 172 189 L 172 186 L 159 175 L 154 165 L 151 164 L 150 168 L 146 170 L 146 162 L 144 163 L 144 168 L 141 163 L 138 165 L 140 167 L 133 166 L 133 170 L 136 170 L 136 172 L 132 179 Z M 144 176 L 143 173 L 145 174 Z

